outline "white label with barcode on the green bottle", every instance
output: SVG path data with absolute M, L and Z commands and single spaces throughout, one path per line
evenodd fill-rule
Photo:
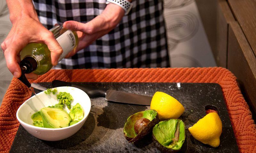
M 63 59 L 70 51 L 72 51 L 76 44 L 76 38 L 74 33 L 71 30 L 67 30 L 58 38 L 56 38 L 61 48 L 63 49 L 63 53 L 60 55 L 59 61 Z M 59 62 L 58 61 L 58 62 Z

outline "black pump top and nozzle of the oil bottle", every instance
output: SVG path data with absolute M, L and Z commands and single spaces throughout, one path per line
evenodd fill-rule
M 27 87 L 31 87 L 31 84 L 28 82 L 28 79 L 25 76 L 25 73 L 31 73 L 35 71 L 37 68 L 36 59 L 33 57 L 25 57 L 20 61 L 20 69 L 21 69 L 21 76 L 18 78 L 21 82 L 23 82 Z

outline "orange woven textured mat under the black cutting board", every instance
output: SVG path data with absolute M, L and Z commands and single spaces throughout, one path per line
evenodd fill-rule
M 237 85 L 236 77 L 227 69 L 211 68 L 134 68 L 51 70 L 34 82 L 52 80 L 72 82 L 194 82 L 219 83 L 240 152 L 256 152 L 256 126 L 252 113 Z M 31 91 L 14 78 L 0 107 L 0 152 L 8 152 L 19 122 L 16 111 L 31 96 Z

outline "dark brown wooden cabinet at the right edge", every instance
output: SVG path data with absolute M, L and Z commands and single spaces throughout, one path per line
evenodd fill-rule
M 217 65 L 235 74 L 255 120 L 256 1 L 196 3 Z

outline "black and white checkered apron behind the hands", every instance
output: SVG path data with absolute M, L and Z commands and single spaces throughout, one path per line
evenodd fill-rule
M 86 23 L 106 7 L 106 0 L 33 0 L 40 22 L 50 29 L 56 23 Z M 116 28 L 62 59 L 55 69 L 169 67 L 161 0 L 133 0 L 133 8 Z M 113 10 L 114 11 L 114 10 Z

